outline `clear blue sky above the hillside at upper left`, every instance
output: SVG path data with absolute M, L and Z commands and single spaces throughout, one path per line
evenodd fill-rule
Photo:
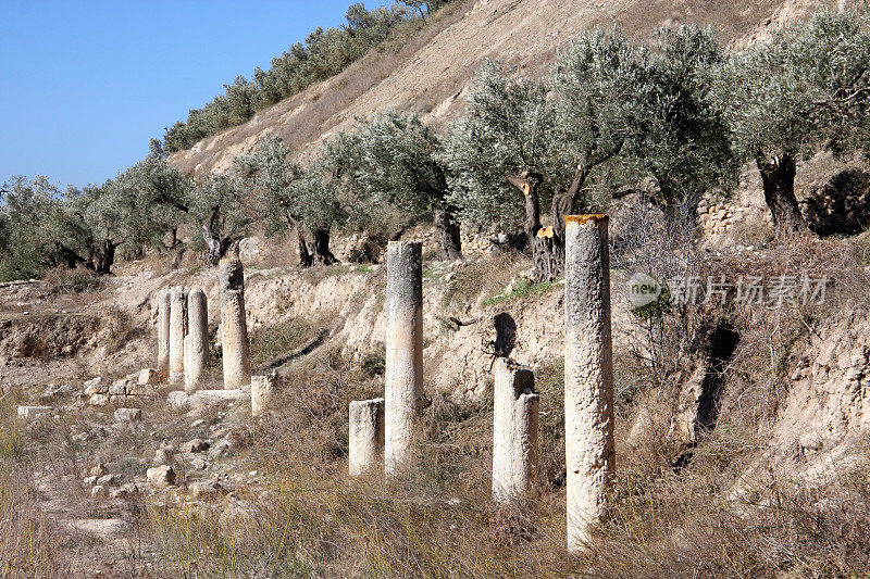
M 0 0 L 0 184 L 114 177 L 225 83 L 344 23 L 351 3 Z

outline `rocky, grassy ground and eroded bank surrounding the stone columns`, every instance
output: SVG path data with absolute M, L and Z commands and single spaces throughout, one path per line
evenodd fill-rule
M 150 255 L 84 286 L 0 288 L 0 464 L 10 474 L 0 479 L 0 531 L 38 528 L 46 549 L 28 558 L 0 539 L 0 564 L 20 577 L 681 576 L 685 561 L 700 575 L 722 575 L 731 561 L 744 576 L 794 569 L 797 557 L 812 570 L 862 572 L 854 526 L 870 496 L 866 239 L 750 243 L 733 239 L 729 223 L 726 243 L 694 256 L 666 243 L 634 247 L 630 260 L 619 228 L 631 215 L 613 222 L 623 248 L 612 279 L 620 480 L 597 563 L 558 555 L 562 286 L 532 284 L 526 257 L 478 236 L 464 261 L 424 264 L 426 437 L 420 471 L 398 487 L 345 476 L 347 404 L 383 392 L 380 265 L 303 272 L 264 260 L 269 243 L 246 242 L 253 365 L 282 376 L 275 412 L 259 419 L 249 397 L 183 397 L 153 369 L 157 292 L 199 286 L 210 305 L 209 388 L 220 388 L 215 273 L 195 260 Z M 698 328 L 695 350 L 669 350 L 691 342 L 676 326 L 662 328 L 657 351 L 624 282 L 631 267 L 668 252 L 699 272 L 828 272 L 834 290 L 822 309 L 674 317 L 724 324 L 733 351 L 711 354 L 711 335 Z M 652 354 L 667 372 L 649 369 Z M 542 393 L 542 487 L 519 518 L 488 501 L 498 355 L 534 368 Z M 767 530 L 747 530 L 753 519 Z M 805 532 L 807 520 L 824 531 Z M 474 538 L 492 559 L 472 556 Z M 706 550 L 711 541 L 724 558 Z M 50 572 L 27 566 L 47 557 Z

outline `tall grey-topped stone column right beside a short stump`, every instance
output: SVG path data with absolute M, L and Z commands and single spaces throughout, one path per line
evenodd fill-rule
M 389 242 L 386 314 L 384 468 L 389 476 L 410 457 L 423 408 L 422 243 Z

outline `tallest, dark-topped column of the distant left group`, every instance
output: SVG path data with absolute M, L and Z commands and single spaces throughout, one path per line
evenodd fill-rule
M 248 388 L 251 383 L 251 360 L 245 319 L 245 273 L 238 257 L 223 259 L 219 267 L 224 388 Z

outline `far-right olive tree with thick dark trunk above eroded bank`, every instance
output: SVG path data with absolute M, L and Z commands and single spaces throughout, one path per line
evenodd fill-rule
M 776 232 L 805 229 L 796 165 L 868 150 L 870 37 L 856 12 L 822 9 L 734 56 L 721 98 L 735 147 L 755 161 Z

